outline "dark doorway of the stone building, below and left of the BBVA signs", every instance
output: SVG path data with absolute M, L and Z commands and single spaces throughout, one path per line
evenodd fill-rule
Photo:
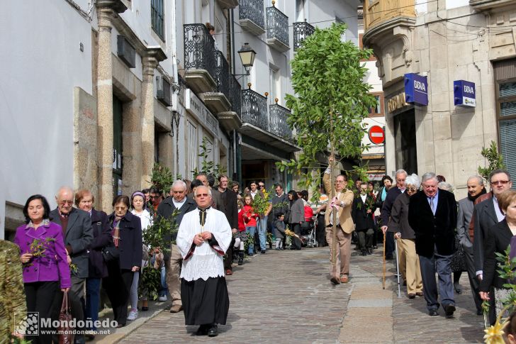
M 394 116 L 394 145 L 396 170 L 403 168 L 408 174 L 417 174 L 414 109 Z

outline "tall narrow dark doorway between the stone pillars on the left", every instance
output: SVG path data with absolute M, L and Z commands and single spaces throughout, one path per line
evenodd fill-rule
M 113 96 L 113 196 L 122 194 L 122 101 Z

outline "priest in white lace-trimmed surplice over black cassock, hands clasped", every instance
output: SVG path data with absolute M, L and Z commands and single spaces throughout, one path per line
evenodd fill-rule
M 222 211 L 210 207 L 210 189 L 197 187 L 194 198 L 198 208 L 184 214 L 176 239 L 183 256 L 181 301 L 186 325 L 200 325 L 198 335 L 214 337 L 230 306 L 223 256 L 231 227 Z

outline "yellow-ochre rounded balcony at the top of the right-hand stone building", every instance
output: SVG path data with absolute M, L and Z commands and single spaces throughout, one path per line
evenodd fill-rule
M 415 18 L 414 0 L 376 0 L 364 3 L 364 28 L 369 30 L 396 17 Z

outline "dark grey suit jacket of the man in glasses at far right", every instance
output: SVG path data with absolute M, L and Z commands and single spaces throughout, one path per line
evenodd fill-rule
M 486 199 L 477 204 L 475 207 L 475 229 L 473 236 L 473 258 L 475 261 L 475 270 L 483 270 L 484 262 L 484 241 L 488 236 L 488 229 L 498 223 L 495 213 L 493 199 Z

